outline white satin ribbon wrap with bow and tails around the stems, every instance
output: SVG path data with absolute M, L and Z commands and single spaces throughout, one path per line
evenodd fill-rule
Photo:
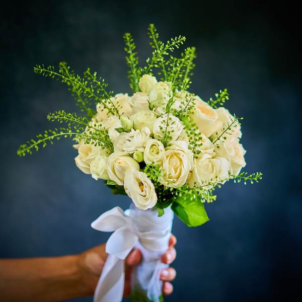
M 160 271 L 168 265 L 161 255 L 168 249 L 173 211 L 165 209 L 158 217 L 157 209 L 140 210 L 133 204 L 125 212 L 120 207 L 103 213 L 92 222 L 92 228 L 114 232 L 106 244 L 109 254 L 95 290 L 94 302 L 119 302 L 124 291 L 124 259 L 135 247 L 142 253 L 142 262 L 136 268 L 134 283 L 146 291 L 149 300 L 159 302 L 162 294 Z

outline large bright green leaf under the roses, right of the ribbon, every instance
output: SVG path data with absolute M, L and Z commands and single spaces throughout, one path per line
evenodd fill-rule
M 200 200 L 178 197 L 172 203 L 172 210 L 188 226 L 199 226 L 209 220 Z

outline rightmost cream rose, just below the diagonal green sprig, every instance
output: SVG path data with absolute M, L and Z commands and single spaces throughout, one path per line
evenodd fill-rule
M 238 175 L 243 167 L 246 166 L 244 155 L 246 150 L 239 143 L 238 137 L 229 137 L 224 143 L 218 142 L 219 148 L 215 149 L 217 156 L 221 156 L 231 163 L 233 175 Z

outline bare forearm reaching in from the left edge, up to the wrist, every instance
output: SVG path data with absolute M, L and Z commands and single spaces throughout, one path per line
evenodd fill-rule
M 88 294 L 78 256 L 0 260 L 1 301 L 62 301 Z

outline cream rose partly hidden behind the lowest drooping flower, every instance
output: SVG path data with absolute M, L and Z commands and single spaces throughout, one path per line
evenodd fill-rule
M 114 152 L 107 159 L 109 178 L 118 185 L 123 185 L 127 172 L 139 171 L 139 165 L 126 152 Z

